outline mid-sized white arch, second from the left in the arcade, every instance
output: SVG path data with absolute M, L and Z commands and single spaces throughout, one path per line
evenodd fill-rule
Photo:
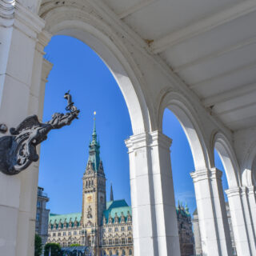
M 202 130 L 199 128 L 199 122 L 196 118 L 197 115 L 194 113 L 193 106 L 190 105 L 190 102 L 177 91 L 167 91 L 162 96 L 160 102 L 158 111 L 159 129 L 162 130 L 163 113 L 168 108 L 176 115 L 186 134 L 192 151 L 195 170 L 210 168 L 213 162 L 210 160 L 209 150 L 207 150 Z

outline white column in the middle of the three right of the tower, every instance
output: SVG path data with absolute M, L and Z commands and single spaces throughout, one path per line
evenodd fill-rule
M 211 255 L 232 255 L 230 230 L 222 190 L 222 171 L 216 168 L 196 170 L 190 174 L 194 182 L 198 207 L 202 252 Z

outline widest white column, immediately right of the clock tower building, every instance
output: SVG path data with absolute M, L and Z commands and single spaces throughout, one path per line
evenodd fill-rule
M 180 255 L 170 144 L 158 131 L 126 140 L 135 256 Z

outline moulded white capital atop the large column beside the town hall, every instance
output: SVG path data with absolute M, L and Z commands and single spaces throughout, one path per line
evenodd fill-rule
M 130 153 L 145 146 L 162 146 L 166 150 L 170 150 L 172 139 L 156 130 L 149 133 L 132 135 L 125 142 Z

